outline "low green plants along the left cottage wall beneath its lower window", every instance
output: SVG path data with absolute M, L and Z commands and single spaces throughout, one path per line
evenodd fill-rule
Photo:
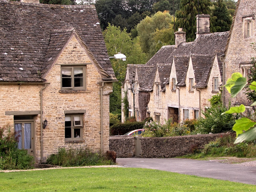
M 110 165 L 111 161 L 101 155 L 100 152 L 91 150 L 87 146 L 79 148 L 59 148 L 57 154 L 51 154 L 47 163 L 63 167 L 89 166 L 89 165 Z

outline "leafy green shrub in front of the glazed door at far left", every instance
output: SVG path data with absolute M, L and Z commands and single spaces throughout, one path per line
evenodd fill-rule
M 0 169 L 33 168 L 34 157 L 24 149 L 18 149 L 18 138 L 11 132 L 11 127 L 0 127 Z

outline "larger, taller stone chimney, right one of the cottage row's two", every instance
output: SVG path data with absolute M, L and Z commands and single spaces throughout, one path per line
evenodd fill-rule
M 196 16 L 196 38 L 201 35 L 209 34 L 210 32 L 210 15 Z

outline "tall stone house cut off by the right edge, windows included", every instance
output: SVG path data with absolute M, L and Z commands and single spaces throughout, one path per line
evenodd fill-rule
M 255 0 L 238 0 L 233 23 L 230 29 L 225 54 L 223 55 L 224 72 L 223 84 L 231 77 L 232 73 L 240 72 L 243 77 L 247 77 L 250 73 L 251 58 L 256 57 L 255 50 L 252 49 L 251 43 L 256 42 L 255 16 L 256 16 Z M 223 89 L 223 103 L 226 106 L 229 102 L 232 106 L 244 104 L 246 114 L 252 115 L 254 108 L 250 106 L 246 95 L 241 91 L 237 97 L 230 98 L 230 94 Z

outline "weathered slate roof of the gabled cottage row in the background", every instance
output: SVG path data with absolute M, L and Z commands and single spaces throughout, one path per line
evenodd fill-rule
M 158 67 L 159 78 L 161 83 L 162 91 L 164 91 L 164 84 L 168 84 L 170 70 L 172 62 L 174 60 L 177 86 L 185 86 L 185 78 L 188 67 L 188 61 L 191 56 L 195 82 L 198 83 L 199 87 L 206 87 L 210 70 L 214 61 L 214 57 L 217 54 L 218 64 L 220 73 L 222 76 L 222 62 L 220 61 L 220 55 L 224 53 L 225 46 L 227 43 L 229 31 L 221 33 L 211 33 L 201 35 L 198 39 L 193 42 L 181 43 L 175 48 L 175 45 L 163 46 L 145 65 L 153 66 L 153 70 L 149 77 L 144 80 L 140 90 L 152 91 L 156 68 Z M 161 68 L 165 66 L 164 68 Z M 140 66 L 143 71 L 143 66 Z M 167 75 L 168 73 L 168 75 Z M 146 71 L 144 71 L 146 75 Z

